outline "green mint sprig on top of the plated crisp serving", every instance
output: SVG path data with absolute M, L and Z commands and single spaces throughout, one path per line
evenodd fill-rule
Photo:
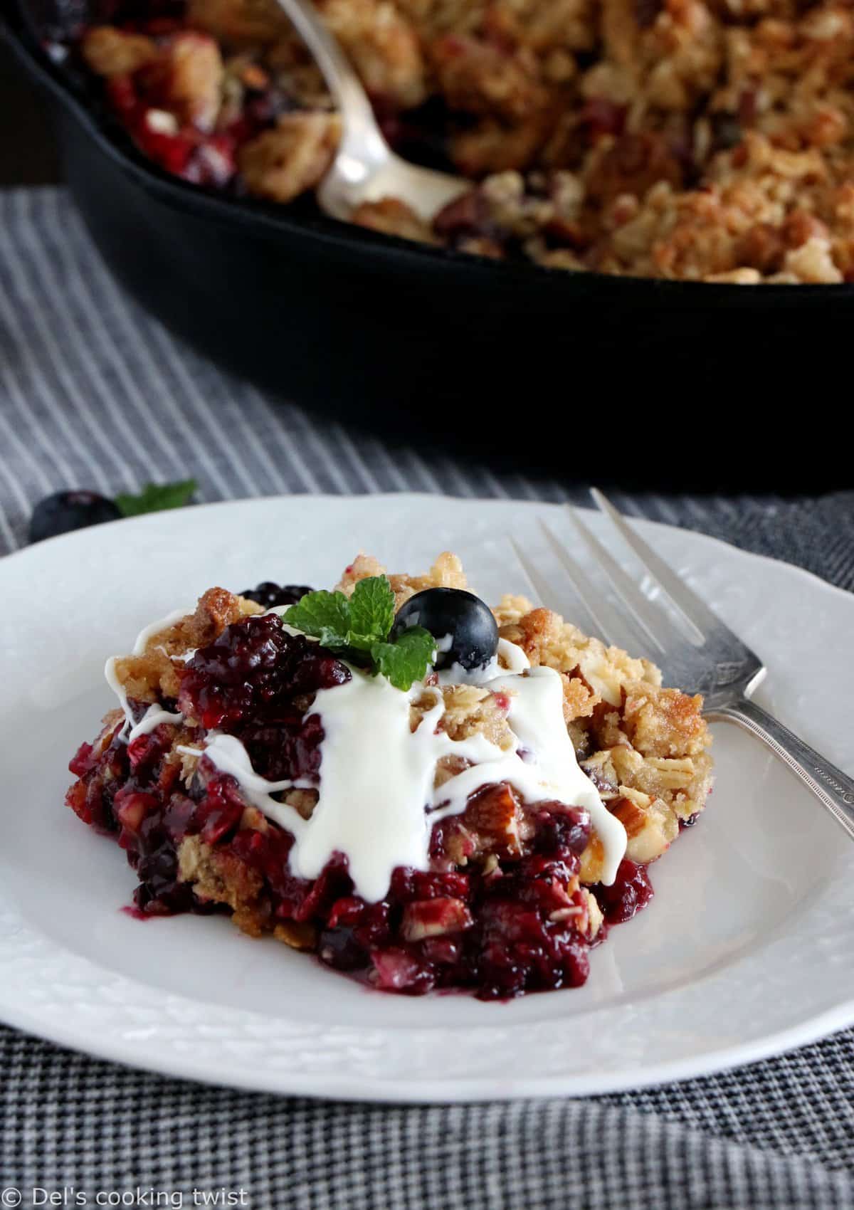
M 306 593 L 282 621 L 374 676 L 382 674 L 399 690 L 422 680 L 435 658 L 435 639 L 420 626 L 391 638 L 394 593 L 387 576 L 360 580 L 352 597 Z

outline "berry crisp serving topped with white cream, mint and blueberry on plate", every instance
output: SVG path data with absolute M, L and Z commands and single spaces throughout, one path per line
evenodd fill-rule
M 711 788 L 702 699 L 460 560 L 208 589 L 106 679 L 67 802 L 134 912 L 230 915 L 379 990 L 575 987 Z M 273 956 L 275 957 L 275 956 Z

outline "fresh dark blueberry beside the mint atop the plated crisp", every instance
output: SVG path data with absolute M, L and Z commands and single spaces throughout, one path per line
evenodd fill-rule
M 426 588 L 410 597 L 398 611 L 392 635 L 410 626 L 423 627 L 438 640 L 437 668 L 480 668 L 498 650 L 498 627 L 489 605 L 461 588 Z

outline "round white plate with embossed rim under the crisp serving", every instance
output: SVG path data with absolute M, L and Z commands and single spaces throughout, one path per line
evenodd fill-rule
M 63 806 L 68 759 L 111 705 L 108 655 L 210 584 L 329 584 L 360 548 L 406 570 L 455 549 L 485 597 L 527 590 L 506 535 L 532 541 L 535 515 L 553 509 L 295 496 L 117 522 L 5 559 L 0 1016 L 174 1076 L 390 1101 L 601 1093 L 854 1021 L 854 848 L 726 725 L 705 816 L 654 868 L 652 905 L 592 955 L 579 990 L 509 1004 L 383 996 L 221 917 L 139 922 L 120 910 L 134 886 L 125 854 Z M 854 598 L 708 537 L 641 530 L 767 661 L 763 701 L 854 772 Z

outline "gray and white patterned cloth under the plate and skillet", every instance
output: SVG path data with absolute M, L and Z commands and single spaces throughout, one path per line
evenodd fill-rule
M 202 500 L 583 495 L 392 449 L 271 402 L 121 294 L 62 191 L 0 194 L 0 552 L 23 544 L 50 491 L 187 474 Z M 617 502 L 854 588 L 854 492 Z M 126 1193 L 140 1206 L 156 1193 L 192 1205 L 194 1188 L 224 1187 L 271 1210 L 854 1208 L 853 1166 L 854 1031 L 647 1091 L 390 1108 L 201 1088 L 0 1027 L 0 1191 L 21 1188 L 24 1206 L 34 1187 Z

